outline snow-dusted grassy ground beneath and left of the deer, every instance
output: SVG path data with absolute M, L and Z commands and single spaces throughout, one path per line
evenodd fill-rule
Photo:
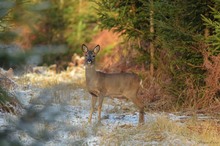
M 62 73 L 61 73 L 62 74 Z M 80 74 L 80 75 L 79 75 Z M 88 124 L 91 96 L 79 86 L 83 72 L 68 73 L 68 76 L 28 74 L 28 81 L 15 89 L 25 110 L 21 116 L 0 113 L 0 145 L 18 142 L 21 145 L 72 146 L 72 145 L 195 145 L 194 141 L 178 135 L 166 133 L 166 139 L 148 139 L 141 126 L 138 126 L 138 112 L 134 105 L 125 100 L 105 98 L 102 109 L 102 123 L 97 124 L 97 112 L 92 124 Z M 49 78 L 56 78 L 55 84 L 41 86 Z M 67 79 L 66 79 L 67 78 Z M 68 80 L 68 78 L 71 78 Z M 32 83 L 33 80 L 35 83 Z M 54 82 L 53 82 L 54 83 Z M 35 84 L 35 85 L 34 85 Z M 37 86 L 36 86 L 37 85 Z M 146 113 L 145 122 L 154 123 L 165 117 L 182 124 L 189 116 L 171 113 Z M 142 133 L 135 133 L 138 128 Z M 134 139 L 127 139 L 126 132 L 134 129 Z M 120 133 L 122 132 L 122 133 Z M 122 136 L 115 141 L 114 136 Z M 111 139 L 113 137 L 113 139 Z M 154 136 L 155 137 L 155 136 Z M 163 140 L 162 140 L 163 139 Z

